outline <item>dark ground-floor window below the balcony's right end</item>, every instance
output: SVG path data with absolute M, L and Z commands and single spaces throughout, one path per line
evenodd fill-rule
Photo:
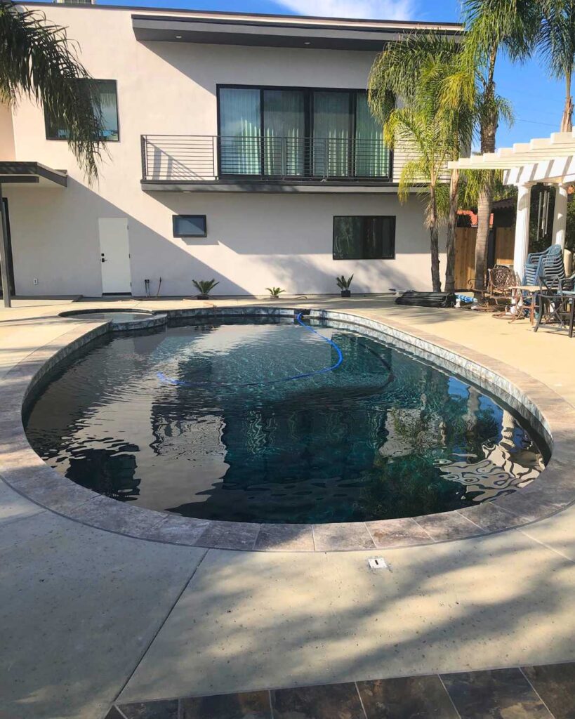
M 395 216 L 334 217 L 334 260 L 392 260 Z

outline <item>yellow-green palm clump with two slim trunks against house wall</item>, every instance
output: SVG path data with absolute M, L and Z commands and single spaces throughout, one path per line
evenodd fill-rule
M 471 144 L 474 126 L 473 94 L 465 83 L 451 78 L 463 72 L 459 39 L 434 33 L 413 34 L 391 43 L 375 61 L 369 75 L 372 113 L 384 125 L 387 142 L 405 143 L 417 151 L 418 160 L 408 162 L 400 178 L 400 199 L 414 184 L 428 184 L 426 224 L 431 236 L 433 290 L 439 291 L 438 216 L 449 203 L 447 227 L 446 292 L 454 291 L 455 230 L 459 172 L 451 173 L 446 196 L 447 160 L 459 157 Z M 459 88 L 459 95 L 453 91 Z M 449 90 L 449 103 L 445 101 Z M 397 98 L 404 103 L 397 108 Z

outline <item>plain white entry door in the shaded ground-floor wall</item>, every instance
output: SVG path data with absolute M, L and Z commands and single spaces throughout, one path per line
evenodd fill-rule
M 101 217 L 100 260 L 102 268 L 102 293 L 122 294 L 132 292 L 130 273 L 130 245 L 126 217 Z

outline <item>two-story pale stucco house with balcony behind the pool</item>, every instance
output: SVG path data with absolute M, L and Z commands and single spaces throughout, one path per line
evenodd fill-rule
M 361 292 L 429 288 L 421 201 L 398 201 L 405 156 L 366 96 L 377 52 L 417 24 L 41 9 L 101 81 L 108 152 L 88 186 L 57 120 L 0 107 L 18 295 L 334 293 L 351 273 Z

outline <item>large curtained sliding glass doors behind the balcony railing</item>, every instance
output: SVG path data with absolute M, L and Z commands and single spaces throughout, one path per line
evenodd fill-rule
M 219 87 L 221 175 L 388 178 L 363 90 Z

